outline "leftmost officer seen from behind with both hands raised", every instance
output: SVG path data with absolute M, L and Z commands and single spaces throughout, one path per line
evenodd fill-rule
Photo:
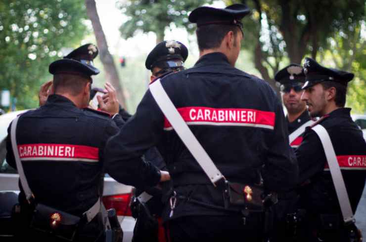
M 97 55 L 95 45 L 83 45 L 61 60 L 49 65 L 52 88 L 46 104 L 20 116 L 16 141 L 25 177 L 34 199 L 26 199 L 20 186 L 20 229 L 17 240 L 62 241 L 39 228 L 43 220 L 35 219 L 34 208 L 44 204 L 52 209 L 80 217 L 74 241 L 104 241 L 101 213 L 88 217 L 84 213 L 100 207 L 104 177 L 104 146 L 116 134 L 118 102 L 103 103 L 109 114 L 88 109 L 92 75 L 99 70 L 92 65 Z M 110 118 L 114 116 L 116 123 Z M 123 121 L 122 121 L 123 122 Z M 10 138 L 7 137 L 8 163 L 16 167 Z M 99 204 L 98 204 L 99 203 Z M 19 211 L 18 211 L 19 212 Z M 38 216 L 40 213 L 37 213 Z M 50 214 L 41 214 L 49 224 Z M 55 220 L 63 224 L 63 216 Z M 57 223 L 56 223 L 57 224 Z M 57 226 L 54 228 L 58 228 Z M 64 227 L 62 227 L 64 229 Z M 70 227 L 68 227 L 70 228 Z M 63 231 L 69 233 L 71 231 Z

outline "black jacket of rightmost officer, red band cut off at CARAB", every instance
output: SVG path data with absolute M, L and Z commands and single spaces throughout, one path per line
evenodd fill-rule
M 339 108 L 317 121 L 329 133 L 353 212 L 356 211 L 366 178 L 366 143 L 360 128 L 352 121 L 351 109 Z M 306 182 L 301 205 L 313 213 L 339 213 L 339 202 L 327 166 L 320 138 L 310 127 L 295 151 L 300 184 Z

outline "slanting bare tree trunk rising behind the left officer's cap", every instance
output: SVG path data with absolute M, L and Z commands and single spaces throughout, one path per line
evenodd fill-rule
M 92 21 L 92 26 L 95 34 L 96 43 L 99 49 L 99 57 L 103 64 L 106 80 L 109 81 L 116 89 L 116 94 L 119 103 L 126 109 L 126 100 L 123 94 L 121 81 L 119 80 L 116 65 L 112 55 L 109 53 L 107 40 L 99 21 L 99 16 L 96 11 L 94 0 L 85 0 L 87 6 L 87 14 Z

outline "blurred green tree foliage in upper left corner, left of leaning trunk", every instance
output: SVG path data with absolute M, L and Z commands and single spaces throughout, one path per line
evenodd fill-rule
M 85 13 L 83 0 L 0 1 L 0 89 L 16 97 L 17 109 L 38 106 L 48 65 L 85 35 Z

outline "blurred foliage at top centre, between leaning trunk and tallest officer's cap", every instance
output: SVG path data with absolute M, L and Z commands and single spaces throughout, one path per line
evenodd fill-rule
M 213 0 L 119 0 L 117 7 L 129 19 L 121 28 L 121 34 L 125 38 L 133 37 L 137 30 L 144 33 L 154 32 L 156 43 L 164 40 L 165 28 L 175 24 L 177 27 L 185 27 L 188 32 L 195 29 L 195 25 L 189 23 L 190 11 Z

